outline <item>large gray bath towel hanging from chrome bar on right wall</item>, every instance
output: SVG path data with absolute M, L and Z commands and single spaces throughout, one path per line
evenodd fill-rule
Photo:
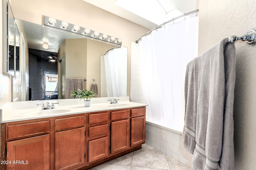
M 235 47 L 223 39 L 188 63 L 183 145 L 196 170 L 234 168 Z M 194 149 L 194 151 L 193 151 Z

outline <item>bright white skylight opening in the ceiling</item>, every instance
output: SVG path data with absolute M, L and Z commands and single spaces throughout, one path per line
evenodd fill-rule
M 183 14 L 168 0 L 117 0 L 115 4 L 157 25 Z

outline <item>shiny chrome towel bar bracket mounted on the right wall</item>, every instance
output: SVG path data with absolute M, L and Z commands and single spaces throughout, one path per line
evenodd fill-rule
M 228 38 L 228 41 L 230 43 L 235 43 L 237 40 L 246 41 L 247 45 L 255 45 L 256 43 L 256 28 L 250 29 L 246 35 L 243 35 L 242 37 L 237 37 L 236 35 L 232 35 Z

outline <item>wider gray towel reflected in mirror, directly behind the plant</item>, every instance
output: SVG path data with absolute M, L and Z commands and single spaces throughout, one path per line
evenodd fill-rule
M 84 90 L 84 78 L 66 78 L 66 99 L 73 99 L 71 94 L 78 89 Z

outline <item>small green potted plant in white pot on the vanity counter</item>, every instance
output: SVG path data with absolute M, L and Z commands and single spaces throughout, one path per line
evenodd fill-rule
M 84 99 L 84 106 L 91 106 L 91 98 L 95 96 L 95 92 L 90 90 L 78 89 L 77 91 L 73 91 L 71 95 L 74 98 L 81 98 L 81 100 Z

